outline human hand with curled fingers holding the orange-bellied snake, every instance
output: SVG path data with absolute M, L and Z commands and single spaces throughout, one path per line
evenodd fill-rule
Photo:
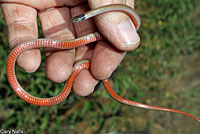
M 130 18 L 117 12 L 105 13 L 80 23 L 72 24 L 71 17 L 90 8 L 107 4 L 127 4 L 134 7 L 133 0 L 1 0 L 7 25 L 10 48 L 20 42 L 38 38 L 37 15 L 44 38 L 69 40 L 99 31 L 112 44 L 99 41 L 96 45 L 72 50 L 45 49 L 46 75 L 54 82 L 67 80 L 75 62 L 91 60 L 91 68 L 82 71 L 75 79 L 73 90 L 80 96 L 93 92 L 98 80 L 108 78 L 125 56 L 125 51 L 138 47 L 140 38 Z M 76 36 L 75 36 L 76 35 Z M 136 45 L 133 45 L 135 44 Z M 27 72 L 34 72 L 41 63 L 39 49 L 23 52 L 17 64 Z

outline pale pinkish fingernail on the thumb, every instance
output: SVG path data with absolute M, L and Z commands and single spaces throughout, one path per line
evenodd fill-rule
M 135 26 L 131 20 L 123 21 L 117 26 L 117 37 L 123 47 L 134 47 L 140 41 Z

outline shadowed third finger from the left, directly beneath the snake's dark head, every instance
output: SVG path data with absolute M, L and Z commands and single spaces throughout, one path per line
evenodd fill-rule
M 80 4 L 74 8 L 71 8 L 71 16 L 73 18 L 88 10 L 89 7 L 87 4 Z M 84 22 L 75 23 L 74 29 L 77 37 L 82 37 L 97 30 L 95 23 L 91 19 Z M 94 43 L 77 48 L 76 61 L 90 60 L 93 55 L 94 48 Z M 94 91 L 94 88 L 97 84 L 98 80 L 92 76 L 91 72 L 89 70 L 84 70 L 76 77 L 73 84 L 73 91 L 79 96 L 87 96 Z

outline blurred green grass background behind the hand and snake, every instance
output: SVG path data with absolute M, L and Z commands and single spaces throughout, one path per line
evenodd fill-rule
M 141 45 L 127 53 L 111 77 L 112 87 L 127 99 L 183 110 L 200 118 L 199 0 L 136 0 L 135 5 L 142 19 L 138 31 Z M 88 97 L 78 97 L 72 92 L 56 106 L 28 104 L 14 93 L 7 81 L 8 54 L 6 26 L 0 12 L 1 129 L 21 129 L 27 134 L 200 132 L 199 124 L 186 116 L 120 104 L 107 94 L 102 83 Z M 32 95 L 55 96 L 64 83 L 49 81 L 44 63 L 43 57 L 40 69 L 32 74 L 16 67 L 17 77 Z

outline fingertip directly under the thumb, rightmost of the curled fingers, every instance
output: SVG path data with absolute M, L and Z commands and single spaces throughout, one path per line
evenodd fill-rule
M 126 52 L 120 51 L 106 41 L 100 41 L 95 47 L 92 60 L 91 72 L 98 80 L 109 78 L 118 67 Z

